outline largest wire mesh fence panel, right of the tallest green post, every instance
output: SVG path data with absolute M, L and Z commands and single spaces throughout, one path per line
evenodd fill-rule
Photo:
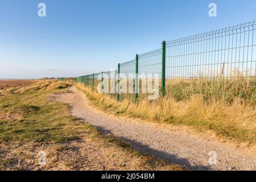
M 195 94 L 202 94 L 205 100 L 255 100 L 254 23 L 167 42 L 167 92 L 177 100 Z

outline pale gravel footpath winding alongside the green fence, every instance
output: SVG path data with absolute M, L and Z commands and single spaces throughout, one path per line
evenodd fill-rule
M 181 164 L 192 170 L 256 170 L 256 158 L 242 154 L 236 147 L 220 142 L 206 141 L 191 135 L 155 128 L 150 123 L 125 121 L 101 113 L 89 105 L 83 93 L 72 87 L 69 92 L 56 94 L 55 100 L 72 107 L 72 114 L 91 123 L 99 130 L 112 133 L 146 154 Z M 214 152 L 213 152 L 214 151 Z M 216 152 L 216 164 L 209 159 Z

